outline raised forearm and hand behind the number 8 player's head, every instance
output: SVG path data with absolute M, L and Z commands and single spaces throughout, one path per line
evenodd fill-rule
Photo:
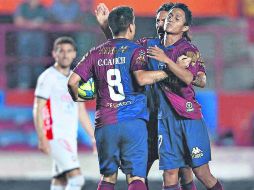
M 95 9 L 96 19 L 101 27 L 101 30 L 105 34 L 106 38 L 112 39 L 112 33 L 108 25 L 108 15 L 109 15 L 109 10 L 104 3 L 100 3 L 99 5 L 97 5 Z

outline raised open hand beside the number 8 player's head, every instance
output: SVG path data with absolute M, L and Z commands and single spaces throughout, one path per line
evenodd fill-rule
M 108 26 L 108 15 L 109 15 L 109 10 L 104 3 L 100 3 L 99 5 L 97 5 L 95 9 L 95 16 L 101 27 Z

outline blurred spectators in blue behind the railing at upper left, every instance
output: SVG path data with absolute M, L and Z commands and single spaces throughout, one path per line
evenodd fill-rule
M 50 53 L 49 43 L 58 36 L 72 36 L 78 42 L 79 56 L 90 48 L 93 35 L 82 32 L 84 25 L 91 23 L 87 19 L 89 16 L 89 13 L 81 10 L 77 0 L 54 0 L 50 7 L 45 7 L 41 0 L 27 0 L 21 3 L 13 15 L 14 24 L 21 28 L 16 34 L 15 54 L 19 62 L 16 69 L 16 87 L 34 87 L 35 78 L 45 66 L 34 66 L 33 62 L 40 62 L 38 58 L 46 57 Z M 61 27 L 65 32 L 58 32 L 49 37 L 47 30 L 52 27 Z M 75 28 L 77 31 L 73 32 Z

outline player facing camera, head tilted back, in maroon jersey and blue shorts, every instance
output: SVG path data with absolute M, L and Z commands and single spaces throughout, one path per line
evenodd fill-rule
M 188 36 L 191 22 L 192 14 L 188 7 L 176 3 L 164 25 L 165 47 L 148 49 L 149 57 L 157 60 L 158 65 L 162 64 L 165 72 L 171 73 L 169 80 L 160 83 L 160 90 L 164 92 L 160 102 L 170 102 L 170 104 L 163 104 L 168 105 L 168 108 L 165 108 L 167 117 L 159 120 L 158 131 L 159 165 L 164 171 L 163 189 L 180 189 L 179 168 L 188 164 L 207 189 L 221 190 L 223 188 L 220 182 L 209 169 L 208 162 L 211 160 L 209 136 L 192 85 L 197 73 L 204 69 L 204 63 L 198 49 L 191 44 Z M 188 68 L 175 64 L 181 55 L 191 58 Z

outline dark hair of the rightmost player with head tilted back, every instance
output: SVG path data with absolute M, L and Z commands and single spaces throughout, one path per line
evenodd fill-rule
M 182 9 L 184 14 L 185 14 L 185 26 L 191 26 L 192 24 L 192 13 L 189 9 L 189 7 L 183 3 L 175 3 L 175 5 L 172 7 L 173 8 L 178 8 Z M 185 37 L 188 41 L 191 41 L 191 37 L 189 36 L 188 31 L 183 33 L 183 37 Z

